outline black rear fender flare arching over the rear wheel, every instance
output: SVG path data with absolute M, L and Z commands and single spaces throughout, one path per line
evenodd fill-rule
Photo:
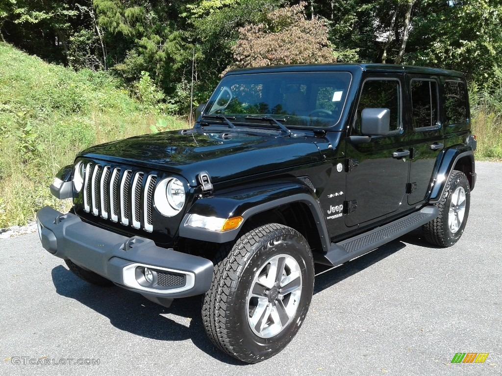
M 455 168 L 457 162 L 464 157 L 469 157 L 472 168 L 472 184 L 471 190 L 474 188 L 476 181 L 476 173 L 474 169 L 474 152 L 470 146 L 462 145 L 461 147 L 452 147 L 447 149 L 441 162 L 434 173 L 434 180 L 432 181 L 431 190 L 429 193 L 429 203 L 435 204 L 441 200 L 443 192 L 446 187 L 446 182 Z

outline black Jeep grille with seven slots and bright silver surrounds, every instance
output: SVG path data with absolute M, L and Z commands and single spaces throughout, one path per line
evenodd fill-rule
M 157 176 L 87 162 L 84 211 L 135 229 L 153 231 L 152 205 Z

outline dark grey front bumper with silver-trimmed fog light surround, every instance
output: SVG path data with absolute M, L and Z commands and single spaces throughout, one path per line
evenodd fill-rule
M 115 234 L 51 207 L 37 213 L 37 224 L 42 246 L 54 256 L 160 304 L 203 294 L 211 286 L 213 264 L 205 258 L 158 247 L 146 238 Z M 145 267 L 162 278 L 149 284 L 142 274 Z

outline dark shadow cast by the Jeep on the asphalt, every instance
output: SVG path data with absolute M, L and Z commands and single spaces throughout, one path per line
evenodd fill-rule
M 329 270 L 316 265 L 314 294 L 350 277 L 380 260 L 406 247 L 400 240 L 390 242 L 379 249 Z M 328 270 L 327 270 L 328 269 Z M 118 287 L 98 287 L 86 283 L 73 275 L 63 265 L 52 270 L 52 280 L 59 295 L 75 299 L 99 314 L 110 323 L 142 337 L 163 341 L 192 342 L 213 358 L 232 365 L 246 365 L 216 348 L 206 336 L 200 313 L 201 296 L 174 300 L 166 308 L 149 301 L 141 295 Z M 165 315 L 175 315 L 177 322 Z

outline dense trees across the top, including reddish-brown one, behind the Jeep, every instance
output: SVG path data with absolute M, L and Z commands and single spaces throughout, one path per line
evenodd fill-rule
M 77 70 L 110 70 L 132 93 L 147 72 L 157 100 L 182 115 L 225 69 L 252 65 L 427 65 L 492 90 L 501 21 L 500 0 L 0 0 L 5 41 Z

